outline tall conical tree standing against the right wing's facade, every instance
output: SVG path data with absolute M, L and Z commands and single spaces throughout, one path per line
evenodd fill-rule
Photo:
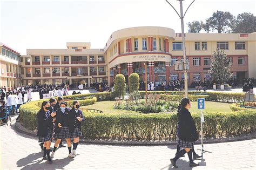
M 211 58 L 211 69 L 208 73 L 211 74 L 213 80 L 216 80 L 219 83 L 225 83 L 227 80 L 232 78 L 232 73 L 230 71 L 231 66 L 232 63 L 228 60 L 224 50 L 220 50 L 218 48 L 213 52 Z

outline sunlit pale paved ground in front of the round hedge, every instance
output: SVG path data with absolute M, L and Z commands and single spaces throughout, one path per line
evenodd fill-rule
M 176 153 L 176 146 L 79 144 L 80 155 L 75 159 L 67 158 L 68 148 L 59 148 L 49 165 L 42 160 L 43 152 L 36 138 L 18 133 L 11 126 L 1 126 L 0 133 L 0 169 L 172 169 L 169 159 Z M 256 139 L 207 144 L 204 149 L 212 153 L 195 160 L 203 163 L 193 169 L 256 169 Z M 177 165 L 178 169 L 192 169 L 188 167 L 187 155 Z

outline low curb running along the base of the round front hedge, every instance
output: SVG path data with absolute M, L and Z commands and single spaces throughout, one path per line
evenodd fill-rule
M 16 119 L 15 119 L 16 120 Z M 37 138 L 36 132 L 30 131 L 23 127 L 21 123 L 17 123 L 15 121 L 15 130 L 17 130 L 19 133 L 23 133 L 26 135 L 29 135 L 30 137 Z M 223 142 L 234 142 L 234 141 L 242 141 L 242 140 L 250 140 L 250 139 L 256 139 L 256 133 L 252 133 L 249 135 L 243 135 L 239 137 L 234 138 L 221 138 L 221 139 L 206 139 L 204 140 L 204 144 L 218 144 Z M 86 139 L 80 139 L 79 143 L 82 144 L 91 144 L 91 145 L 116 145 L 116 146 L 168 146 L 168 145 L 177 145 L 176 141 L 107 141 L 107 140 L 86 140 Z M 200 140 L 196 141 L 195 145 L 201 145 Z

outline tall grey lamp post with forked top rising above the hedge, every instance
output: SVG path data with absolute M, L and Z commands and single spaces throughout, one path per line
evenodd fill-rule
M 165 0 L 167 3 L 169 3 L 169 5 L 172 6 L 172 4 Z M 184 15 L 183 15 L 183 4 L 182 2 L 185 0 L 177 0 L 179 1 L 179 6 L 180 6 L 180 14 L 177 12 L 177 10 L 172 6 L 172 8 L 176 11 L 176 13 L 178 14 L 180 21 L 181 21 L 181 34 L 182 34 L 182 47 L 183 47 L 183 66 L 184 66 L 184 90 L 185 90 L 185 97 L 188 97 L 187 95 L 187 70 L 186 70 L 186 49 L 185 49 L 185 33 L 184 33 L 184 17 L 186 15 L 186 12 L 188 10 L 188 8 L 190 8 L 190 6 L 192 5 L 192 3 L 195 1 L 193 0 L 193 2 L 188 6 L 188 8 L 186 9 Z

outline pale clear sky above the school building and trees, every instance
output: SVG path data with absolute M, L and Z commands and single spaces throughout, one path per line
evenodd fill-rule
M 193 0 L 184 1 L 184 10 Z M 169 0 L 179 12 L 179 2 Z M 66 49 L 66 42 L 91 42 L 103 49 L 111 33 L 134 26 L 164 26 L 181 32 L 177 13 L 165 0 L 0 0 L 0 42 L 26 49 Z M 256 15 L 255 0 L 196 0 L 184 18 L 205 21 L 215 11 Z

